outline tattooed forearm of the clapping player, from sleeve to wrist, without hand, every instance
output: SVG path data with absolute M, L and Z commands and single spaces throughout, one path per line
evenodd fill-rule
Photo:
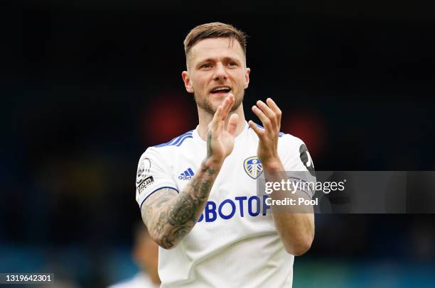
M 173 189 L 161 189 L 144 202 L 142 218 L 161 247 L 173 248 L 195 226 L 219 169 L 209 167 L 205 160 L 180 194 Z

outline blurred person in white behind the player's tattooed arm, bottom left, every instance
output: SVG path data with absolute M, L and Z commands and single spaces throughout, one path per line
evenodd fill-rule
M 151 240 L 143 223 L 134 230 L 133 260 L 139 267 L 139 272 L 131 279 L 109 286 L 109 288 L 156 288 L 160 287 L 157 262 L 158 246 Z

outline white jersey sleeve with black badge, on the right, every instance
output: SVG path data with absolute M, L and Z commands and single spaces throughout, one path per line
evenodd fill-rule
M 293 180 L 301 180 L 306 183 L 314 182 L 316 184 L 316 171 L 314 170 L 313 159 L 311 159 L 304 141 L 289 134 L 284 135 L 284 137 L 285 139 L 282 142 L 284 147 L 282 147 L 280 157 L 282 165 L 287 172 L 286 174 L 290 178 L 293 178 Z M 302 190 L 312 197 L 315 192 L 311 189 L 313 185 L 305 185 L 303 187 L 305 189 Z

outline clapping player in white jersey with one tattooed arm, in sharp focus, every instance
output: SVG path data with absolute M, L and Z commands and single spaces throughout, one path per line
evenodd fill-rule
M 281 111 L 267 99 L 245 121 L 246 36 L 208 23 L 184 41 L 186 90 L 199 124 L 139 160 L 136 201 L 158 243 L 161 287 L 291 287 L 294 255 L 311 246 L 311 213 L 267 214 L 257 196 L 262 171 L 312 170 L 306 146 L 279 132 Z

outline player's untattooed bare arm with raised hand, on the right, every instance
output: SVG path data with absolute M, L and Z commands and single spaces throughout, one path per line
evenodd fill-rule
M 257 106 L 252 107 L 252 111 L 259 117 L 264 125 L 264 130 L 258 128 L 254 122 L 249 121 L 249 126 L 257 133 L 259 137 L 259 145 L 257 156 L 262 162 L 264 173 L 267 181 L 275 182 L 286 179 L 284 173 L 276 173 L 285 171 L 278 155 L 278 136 L 281 126 L 281 110 L 272 101 L 267 99 L 267 104 L 263 101 L 257 101 Z M 281 176 L 280 176 L 281 174 Z M 285 195 L 284 195 L 285 194 Z M 287 192 L 274 192 L 272 199 L 280 199 L 281 197 L 289 196 Z M 298 198 L 308 195 L 304 192 L 296 192 L 291 197 Z M 314 215 L 313 208 L 306 206 L 303 213 L 273 213 L 272 217 L 276 226 L 276 231 L 279 234 L 284 248 L 292 255 L 302 255 L 308 251 L 313 243 L 314 238 Z M 298 208 L 301 212 L 301 208 Z

